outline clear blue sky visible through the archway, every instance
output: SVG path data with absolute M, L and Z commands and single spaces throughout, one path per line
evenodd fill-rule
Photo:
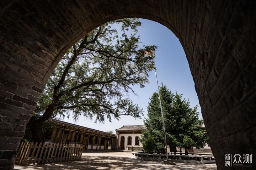
M 178 38 L 165 26 L 161 24 L 140 19 L 142 27 L 139 28 L 138 34 L 144 45 L 156 45 L 159 49 L 156 51 L 156 72 L 158 83 L 163 83 L 172 92 L 177 91 L 178 94 L 183 94 L 183 98 L 190 100 L 191 107 L 199 106 L 197 93 L 194 88 L 194 81 L 188 66 L 188 61 Z M 143 107 L 144 117 L 147 117 L 146 107 L 148 106 L 149 98 L 153 92 L 157 92 L 155 72 L 152 72 L 149 77 L 149 84 L 146 84 L 143 89 L 134 87 L 137 96 L 130 97 L 134 103 L 138 103 Z M 198 112 L 201 113 L 200 106 Z M 78 124 L 87 128 L 92 128 L 101 131 L 121 128 L 122 125 L 142 125 L 142 119 L 134 119 L 131 116 L 121 116 L 120 120 L 112 119 L 112 123 L 105 120 L 105 123 L 94 123 L 94 120 L 79 117 L 77 122 L 74 122 L 72 117 L 64 118 L 63 121 Z M 202 115 L 200 115 L 202 117 Z

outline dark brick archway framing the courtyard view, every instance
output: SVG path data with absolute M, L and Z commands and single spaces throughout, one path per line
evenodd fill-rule
M 254 1 L 0 3 L 1 168 L 13 167 L 38 97 L 69 47 L 97 26 L 129 17 L 159 22 L 179 38 L 219 169 L 224 167 L 224 154 L 255 153 Z

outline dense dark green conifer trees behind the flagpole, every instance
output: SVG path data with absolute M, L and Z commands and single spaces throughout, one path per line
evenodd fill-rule
M 174 94 L 165 85 L 160 87 L 160 97 L 164 115 L 166 141 L 170 148 L 190 147 L 202 148 L 209 138 L 203 126 L 203 119 L 199 119 L 198 106 L 190 107 L 190 102 L 182 99 L 182 95 Z M 158 92 L 154 92 L 148 104 L 148 118 L 143 131 L 142 141 L 151 135 L 156 143 L 155 152 L 165 152 L 164 130 L 162 126 L 161 108 Z

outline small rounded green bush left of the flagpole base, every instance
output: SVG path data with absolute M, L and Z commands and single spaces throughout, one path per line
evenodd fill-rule
M 151 135 L 147 137 L 143 136 L 142 139 L 139 139 L 143 146 L 144 153 L 154 153 L 156 150 L 156 142 Z

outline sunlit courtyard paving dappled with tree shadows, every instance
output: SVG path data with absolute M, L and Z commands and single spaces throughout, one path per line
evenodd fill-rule
M 130 152 L 83 153 L 81 161 L 58 162 L 30 166 L 15 165 L 15 170 L 216 170 L 216 164 L 164 165 L 160 162 L 135 159 Z

